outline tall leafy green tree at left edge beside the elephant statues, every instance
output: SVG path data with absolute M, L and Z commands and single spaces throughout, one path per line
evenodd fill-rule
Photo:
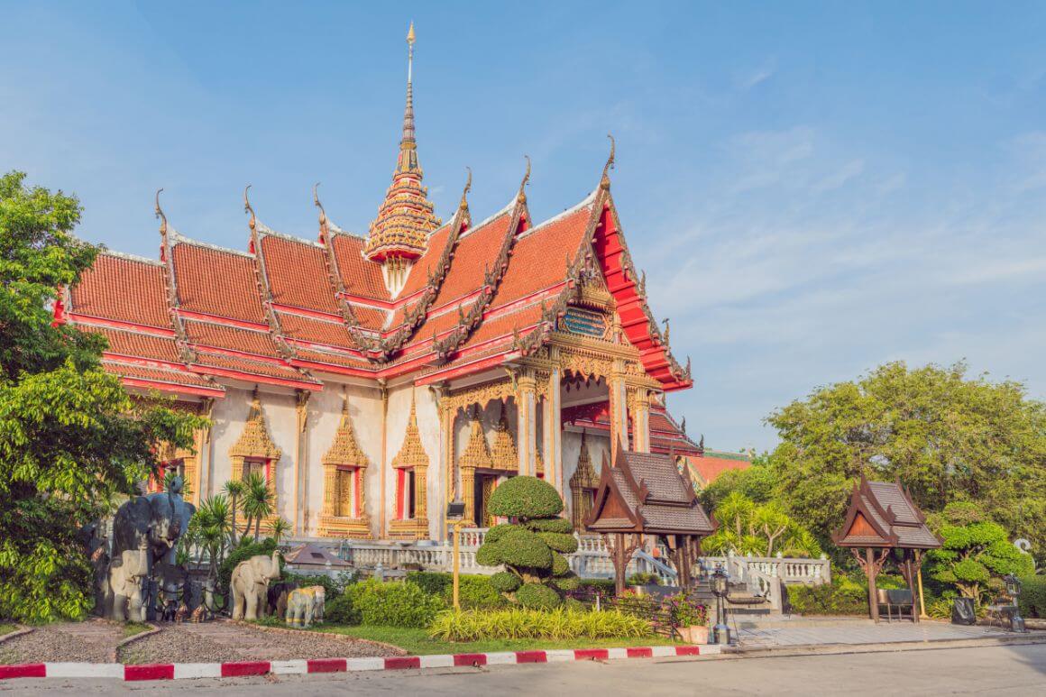
M 72 234 L 79 215 L 74 197 L 0 177 L 0 617 L 82 616 L 78 529 L 153 471 L 158 441 L 191 447 L 204 423 L 132 400 L 101 369 L 104 339 L 52 325 L 56 290 L 97 253 Z

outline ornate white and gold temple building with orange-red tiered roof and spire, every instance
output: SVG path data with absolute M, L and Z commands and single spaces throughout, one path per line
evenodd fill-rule
M 408 36 L 412 64 L 414 35 Z M 647 306 L 611 194 L 611 155 L 583 200 L 545 221 L 529 164 L 473 217 L 469 183 L 441 220 L 424 185 L 408 69 L 400 150 L 366 235 L 314 190 L 312 239 L 267 227 L 244 194 L 246 249 L 179 233 L 158 260 L 103 251 L 55 320 L 109 341 L 105 368 L 206 414 L 194 450 L 161 448 L 192 500 L 256 473 L 294 535 L 444 539 L 451 500 L 476 526 L 505 478 L 543 477 L 579 524 L 618 441 L 703 451 L 668 414 L 692 385 Z

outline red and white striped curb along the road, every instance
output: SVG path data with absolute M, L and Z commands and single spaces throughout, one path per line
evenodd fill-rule
M 663 658 L 705 656 L 720 652 L 718 646 L 645 646 L 630 649 L 561 649 L 549 651 L 506 651 L 503 653 L 457 653 L 434 656 L 392 656 L 388 658 L 312 658 L 300 660 L 242 660 L 228 664 L 20 664 L 0 666 L 0 679 L 64 677 L 116 678 L 118 680 L 178 680 L 182 678 L 241 677 L 245 675 L 294 675 L 305 673 L 350 673 L 395 671 L 422 668 L 460 668 L 552 664 L 569 660 L 613 658 Z

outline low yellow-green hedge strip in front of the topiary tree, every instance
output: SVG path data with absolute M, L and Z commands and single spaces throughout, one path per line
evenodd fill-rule
M 524 586 L 526 588 L 527 586 Z M 548 590 L 545 586 L 537 586 Z M 650 624 L 616 610 L 585 612 L 510 608 L 493 612 L 444 612 L 429 633 L 442 642 L 482 639 L 641 638 L 652 635 Z

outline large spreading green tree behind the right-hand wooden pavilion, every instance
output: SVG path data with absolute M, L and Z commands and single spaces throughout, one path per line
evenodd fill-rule
M 927 513 L 953 501 L 990 512 L 1010 538 L 1046 547 L 1046 405 L 1019 382 L 970 378 L 963 363 L 887 363 L 772 413 L 782 501 L 822 540 L 842 522 L 849 489 L 900 478 Z

